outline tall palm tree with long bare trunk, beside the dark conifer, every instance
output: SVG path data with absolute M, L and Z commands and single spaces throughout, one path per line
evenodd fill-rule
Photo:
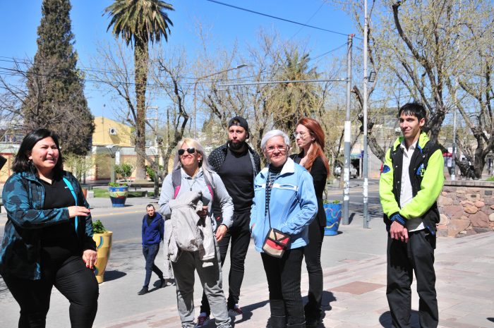
M 133 109 L 135 122 L 135 152 L 137 153 L 135 178 L 145 178 L 145 118 L 146 118 L 146 84 L 147 63 L 149 60 L 149 42 L 160 42 L 162 37 L 168 41 L 170 26 L 173 23 L 165 13 L 173 11 L 171 4 L 159 0 L 115 0 L 104 9 L 112 18 L 107 31 L 112 28 L 116 38 L 122 37 L 127 45 L 134 49 L 135 99 L 137 113 Z

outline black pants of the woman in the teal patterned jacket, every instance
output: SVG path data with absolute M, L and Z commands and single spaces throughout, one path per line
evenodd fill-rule
M 53 266 L 43 265 L 40 280 L 3 277 L 8 290 L 20 306 L 19 328 L 46 326 L 53 286 L 71 303 L 71 327 L 92 327 L 99 296 L 98 283 L 92 269 L 85 266 L 81 257 L 75 256 L 61 265 L 50 264 Z

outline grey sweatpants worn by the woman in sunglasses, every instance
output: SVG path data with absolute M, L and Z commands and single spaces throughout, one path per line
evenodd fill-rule
M 224 297 L 222 269 L 219 266 L 219 250 L 216 257 L 208 262 L 207 267 L 199 259 L 199 252 L 181 251 L 176 262 L 171 262 L 175 274 L 176 303 L 179 308 L 182 328 L 194 327 L 194 270 L 197 270 L 200 283 L 210 303 L 211 314 L 215 317 L 217 328 L 231 328 L 227 310 L 227 299 Z

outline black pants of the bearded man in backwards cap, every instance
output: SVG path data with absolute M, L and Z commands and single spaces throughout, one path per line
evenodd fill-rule
M 245 272 L 244 263 L 246 262 L 248 243 L 251 241 L 251 231 L 248 229 L 250 220 L 251 212 L 234 212 L 234 223 L 218 243 L 219 257 L 223 267 L 224 260 L 227 257 L 228 245 L 231 240 L 227 300 L 227 307 L 229 309 L 233 309 L 239 303 L 240 287 L 242 286 L 243 272 Z M 204 292 L 203 300 L 200 303 L 200 312 L 205 312 L 207 315 L 210 315 L 211 312 Z

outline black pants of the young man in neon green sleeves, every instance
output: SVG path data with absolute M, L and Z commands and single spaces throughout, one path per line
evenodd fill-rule
M 387 303 L 395 328 L 409 328 L 411 283 L 417 279 L 418 315 L 421 328 L 438 327 L 435 293 L 435 236 L 426 231 L 409 233 L 408 243 L 387 237 Z

